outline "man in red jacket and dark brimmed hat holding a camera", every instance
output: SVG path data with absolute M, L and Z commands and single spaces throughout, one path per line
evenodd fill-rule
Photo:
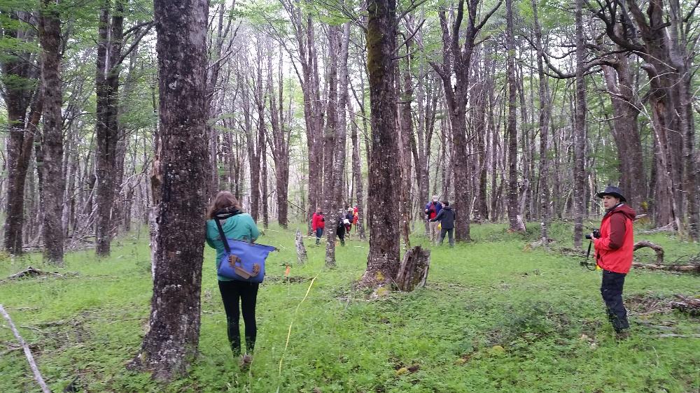
M 605 215 L 601 221 L 600 233 L 591 234 L 591 241 L 596 248 L 596 264 L 603 269 L 601 295 L 617 338 L 624 339 L 629 337 L 629 322 L 627 310 L 622 303 L 622 287 L 632 266 L 632 222 L 636 213 L 624 204 L 626 199 L 618 187 L 608 185 L 597 196 L 603 199 Z

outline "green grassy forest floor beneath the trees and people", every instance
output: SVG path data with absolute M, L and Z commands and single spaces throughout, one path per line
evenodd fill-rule
M 428 245 L 419 225 L 412 245 Z M 537 238 L 531 227 L 508 234 L 502 224 L 472 224 L 473 243 L 430 246 L 426 287 L 380 299 L 353 289 L 367 242 L 349 240 L 337 248 L 337 268 L 326 269 L 325 247 L 307 238 L 309 262 L 300 266 L 293 230 L 271 227 L 259 242 L 281 251 L 267 260 L 247 371 L 228 349 L 207 248 L 200 356 L 188 376 L 167 386 L 125 369 L 148 325 L 146 231 L 115 241 L 109 259 L 70 252 L 62 269 L 42 265 L 41 255 L 4 257 L 0 303 L 55 392 L 73 380 L 81 392 L 700 392 L 700 338 L 659 337 L 700 334 L 700 317 L 666 306 L 675 294 L 700 297 L 699 276 L 633 269 L 624 289 L 632 335 L 617 342 L 600 273 L 556 251 L 571 246 L 562 240 L 570 224 L 553 225 L 560 241 L 550 251 L 528 246 Z M 668 234 L 636 240 L 662 245 L 669 262 L 700 253 Z M 636 259 L 655 258 L 645 248 Z M 29 265 L 62 276 L 6 279 Z M 0 392 L 39 391 L 5 320 L 0 376 Z

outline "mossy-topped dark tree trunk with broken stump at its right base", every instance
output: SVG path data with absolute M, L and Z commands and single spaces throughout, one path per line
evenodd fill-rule
M 396 45 L 395 0 L 369 0 L 367 3 L 367 74 L 370 79 L 370 120 L 372 149 L 369 211 L 370 252 L 362 283 L 369 287 L 388 285 L 399 266 L 399 234 L 395 222 L 395 202 L 400 184 L 398 130 L 394 83 Z

